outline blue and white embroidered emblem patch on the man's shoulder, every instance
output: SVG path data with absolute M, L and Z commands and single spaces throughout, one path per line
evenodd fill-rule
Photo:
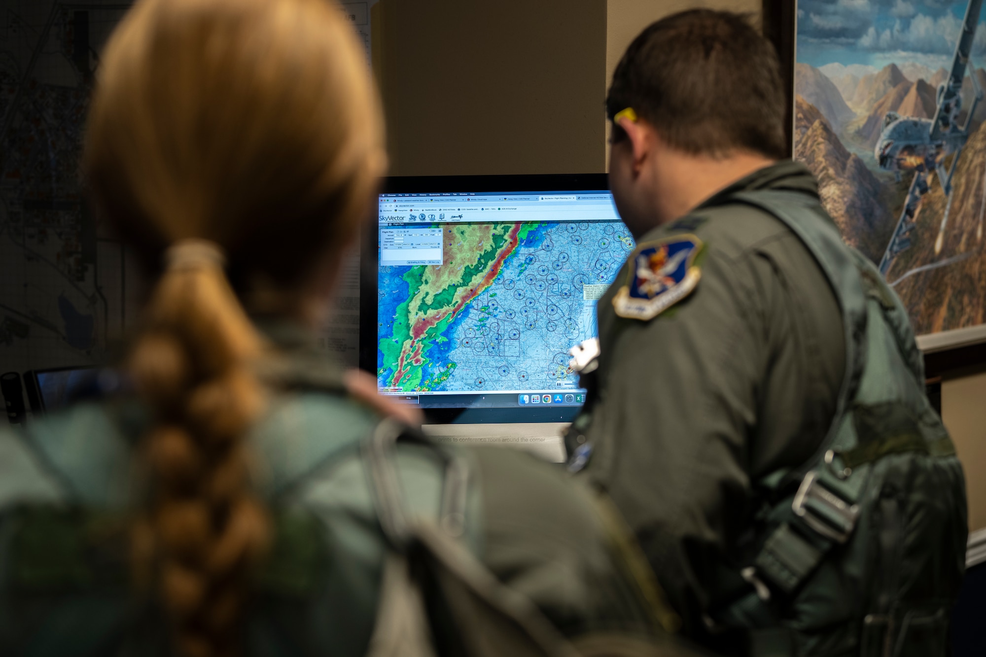
M 702 241 L 694 235 L 675 235 L 637 247 L 630 260 L 626 284 L 613 297 L 620 317 L 650 320 L 695 289 L 702 272 L 695 256 Z

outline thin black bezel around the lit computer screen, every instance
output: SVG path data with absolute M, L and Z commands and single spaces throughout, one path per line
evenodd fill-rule
M 511 176 L 393 176 L 384 179 L 380 193 L 595 191 L 608 189 L 605 174 L 528 174 Z M 360 239 L 360 369 L 377 376 L 377 213 L 366 222 Z M 541 408 L 429 408 L 429 422 L 565 422 L 580 406 Z M 468 410 L 469 412 L 465 412 Z

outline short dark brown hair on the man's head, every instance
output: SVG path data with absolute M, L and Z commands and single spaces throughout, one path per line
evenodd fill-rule
M 787 156 L 777 53 L 740 14 L 695 9 L 644 30 L 623 53 L 606 96 L 610 120 L 626 108 L 687 153 Z M 614 126 L 614 141 L 624 136 Z

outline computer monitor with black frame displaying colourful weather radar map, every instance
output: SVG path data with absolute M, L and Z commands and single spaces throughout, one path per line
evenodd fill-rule
M 433 422 L 575 415 L 568 351 L 634 248 L 605 175 L 391 178 L 374 224 L 360 361 L 382 395 Z

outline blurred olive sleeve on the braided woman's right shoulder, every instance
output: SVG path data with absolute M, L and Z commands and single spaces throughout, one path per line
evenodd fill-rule
M 597 491 L 555 464 L 502 447 L 476 450 L 484 564 L 568 636 L 657 631 L 630 576 L 625 536 Z

